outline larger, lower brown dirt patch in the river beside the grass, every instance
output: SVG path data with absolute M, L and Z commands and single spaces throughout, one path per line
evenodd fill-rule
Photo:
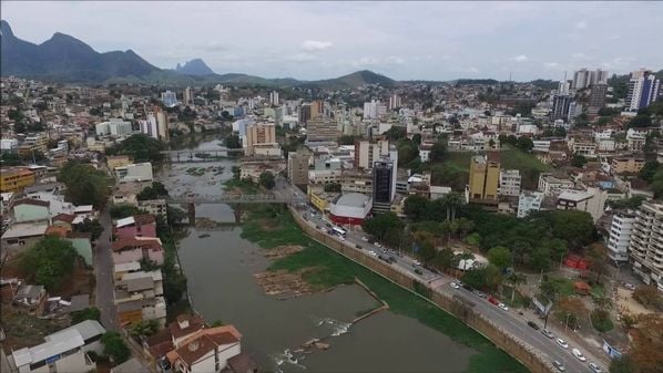
M 298 272 L 267 271 L 255 273 L 254 277 L 267 296 L 282 296 L 280 299 L 288 299 L 314 293 L 313 288 L 303 279 L 306 272 L 313 270 L 315 269 Z

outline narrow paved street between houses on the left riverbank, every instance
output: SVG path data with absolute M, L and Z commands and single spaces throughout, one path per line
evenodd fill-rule
M 96 274 L 96 308 L 101 311 L 101 323 L 106 330 L 118 330 L 113 293 L 113 257 L 111 255 L 112 220 L 108 209 L 99 219 L 103 232 L 94 249 L 94 272 Z

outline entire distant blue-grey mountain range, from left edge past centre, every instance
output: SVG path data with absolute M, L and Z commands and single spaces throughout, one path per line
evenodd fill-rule
M 337 79 L 298 81 L 265 79 L 247 74 L 216 74 L 201 59 L 159 69 L 132 50 L 100 53 L 84 42 L 57 32 L 41 44 L 17 38 L 9 23 L 0 21 L 0 74 L 71 83 L 147 83 L 163 85 L 236 84 L 354 89 L 365 84 L 395 85 L 387 76 L 358 71 Z

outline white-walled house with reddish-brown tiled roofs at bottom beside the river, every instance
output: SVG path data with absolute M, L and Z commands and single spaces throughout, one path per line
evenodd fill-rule
M 242 353 L 242 334 L 233 325 L 203 329 L 166 354 L 174 371 L 182 373 L 221 372 L 228 360 Z

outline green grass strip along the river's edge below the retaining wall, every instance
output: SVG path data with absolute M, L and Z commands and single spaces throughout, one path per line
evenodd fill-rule
M 267 209 L 273 209 L 274 213 L 268 214 Z M 261 227 L 268 227 L 268 229 Z M 317 289 L 351 283 L 355 277 L 358 278 L 379 299 L 386 301 L 394 313 L 416 319 L 453 341 L 476 350 L 477 354 L 473 354 L 469 361 L 467 369 L 469 373 L 528 372 L 518 361 L 460 320 L 305 236 L 283 207 L 254 208 L 249 213 L 242 237 L 266 249 L 279 245 L 302 245 L 304 250 L 277 259 L 269 269 L 298 271 L 315 268 L 314 271 L 306 273 L 304 279 Z

